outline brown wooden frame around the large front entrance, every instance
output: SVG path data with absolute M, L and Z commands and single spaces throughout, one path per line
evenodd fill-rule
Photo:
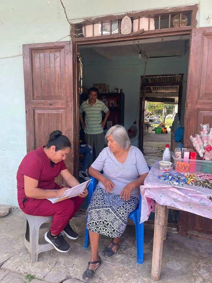
M 97 37 L 82 37 L 82 38 L 77 38 L 76 36 L 72 35 L 72 41 L 73 41 L 73 92 L 75 92 L 75 97 L 76 97 L 76 103 L 75 105 L 79 105 L 80 103 L 80 94 L 78 91 L 78 74 L 79 74 L 79 64 L 78 64 L 78 58 L 77 58 L 77 53 L 79 52 L 79 48 L 82 45 L 95 45 L 95 44 L 103 44 L 103 43 L 112 43 L 112 42 L 124 42 L 124 41 L 132 41 L 132 40 L 143 40 L 143 39 L 148 39 L 148 38 L 158 38 L 158 37 L 168 37 L 168 36 L 175 36 L 175 35 L 190 35 L 190 40 L 191 40 L 191 32 L 193 28 L 196 28 L 197 26 L 197 20 L 196 20 L 196 15 L 198 13 L 199 5 L 194 4 L 190 6 L 178 6 L 178 7 L 170 7 L 170 8 L 163 8 L 163 9 L 153 9 L 153 10 L 148 10 L 148 11 L 143 11 L 143 12 L 138 12 L 138 13 L 127 13 L 128 16 L 133 17 L 136 14 L 142 14 L 144 13 L 145 15 L 148 14 L 154 15 L 158 13 L 173 13 L 173 12 L 181 12 L 185 10 L 192 10 L 192 22 L 191 26 L 189 27 L 178 27 L 178 28 L 167 28 L 167 29 L 156 29 L 156 30 L 149 30 L 144 32 L 143 34 L 139 35 L 121 35 L 121 34 L 110 34 L 110 35 L 101 35 Z M 119 15 L 118 17 L 121 18 L 123 15 Z M 116 19 L 117 16 L 115 15 L 108 15 L 105 17 L 96 17 L 97 21 L 103 21 L 103 20 L 112 20 Z M 71 29 L 75 29 L 76 25 L 71 24 Z M 70 31 L 71 33 L 71 31 Z M 190 50 L 189 50 L 189 59 L 190 59 Z M 187 93 L 186 93 L 187 97 Z M 80 129 L 80 121 L 79 121 L 79 107 L 76 109 L 76 127 L 77 127 L 77 143 L 76 146 L 79 144 L 79 129 Z M 77 160 L 75 162 L 75 165 L 77 167 L 77 176 L 78 176 L 78 171 L 79 171 L 79 150 L 78 148 L 75 148 L 75 152 L 77 152 Z

